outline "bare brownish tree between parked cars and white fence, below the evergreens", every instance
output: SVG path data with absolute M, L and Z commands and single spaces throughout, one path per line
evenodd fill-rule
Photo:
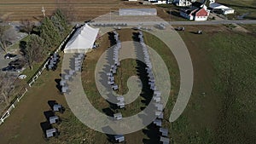
M 34 61 L 39 62 L 44 58 L 44 39 L 38 37 L 38 35 L 32 34 L 26 43 L 24 53 L 28 66 L 32 69 Z

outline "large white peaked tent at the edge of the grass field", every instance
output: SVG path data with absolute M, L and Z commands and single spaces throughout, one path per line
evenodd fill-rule
M 64 53 L 85 53 L 92 49 L 98 32 L 98 28 L 92 28 L 87 24 L 80 27 L 68 41 Z

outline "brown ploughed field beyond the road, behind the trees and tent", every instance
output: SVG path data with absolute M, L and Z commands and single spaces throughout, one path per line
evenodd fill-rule
M 119 8 L 141 8 L 139 3 L 127 3 L 121 0 L 2 0 L 0 2 L 0 18 L 20 21 L 21 19 L 40 20 L 43 18 L 42 7 L 50 15 L 57 8 L 73 14 L 74 20 L 83 21 L 96 18 Z M 143 6 L 152 7 L 152 6 Z

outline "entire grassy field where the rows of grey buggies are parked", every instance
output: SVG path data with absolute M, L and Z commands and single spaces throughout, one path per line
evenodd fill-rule
M 203 30 L 202 35 L 193 33 L 198 29 Z M 120 31 L 121 41 L 131 40 L 131 32 Z M 255 35 L 234 32 L 225 26 L 186 26 L 186 31 L 179 34 L 189 49 L 195 81 L 189 105 L 183 115 L 172 124 L 164 121 L 164 125 L 169 127 L 172 143 L 254 143 Z M 165 111 L 165 118 L 169 118 L 168 113 L 172 111 L 179 86 L 176 60 L 158 38 L 147 32 L 144 35 L 145 42 L 161 55 L 170 72 L 171 102 L 168 102 Z M 100 55 L 110 46 L 108 35 L 101 37 L 100 42 L 100 48 L 89 53 L 84 61 L 82 79 L 84 89 L 89 89 L 86 90 L 86 94 L 89 95 L 90 101 L 102 112 L 102 109 L 108 108 L 109 105 L 96 90 L 94 69 Z M 127 77 L 134 74 L 132 72 L 136 64 L 133 60 L 124 60 L 121 65 L 129 67 Z M 124 73 L 122 69 L 119 71 Z M 47 102 L 56 100 L 67 107 L 65 98 L 55 87 L 55 81 L 60 79 L 60 72 L 60 69 L 55 72 L 44 72 L 10 118 L 0 126 L 0 135 L 3 135 L 1 142 L 46 143 L 40 123 L 45 121 L 44 112 L 49 110 Z M 119 75 L 117 78 L 120 78 Z M 119 83 L 125 84 L 125 79 Z M 60 117 L 63 121 L 57 128 L 61 130 L 61 135 L 58 139 L 51 139 L 49 143 L 81 143 L 83 139 L 86 143 L 110 143 L 107 135 L 90 130 L 81 124 L 68 108 Z M 125 135 L 125 138 L 128 144 L 156 143 L 152 125 Z

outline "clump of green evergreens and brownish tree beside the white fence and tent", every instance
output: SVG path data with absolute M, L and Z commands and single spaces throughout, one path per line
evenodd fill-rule
M 33 62 L 44 60 L 69 32 L 67 16 L 61 9 L 44 17 L 40 26 L 29 20 L 22 20 L 21 24 L 20 30 L 28 34 L 28 40 L 20 42 L 20 51 L 31 69 Z

